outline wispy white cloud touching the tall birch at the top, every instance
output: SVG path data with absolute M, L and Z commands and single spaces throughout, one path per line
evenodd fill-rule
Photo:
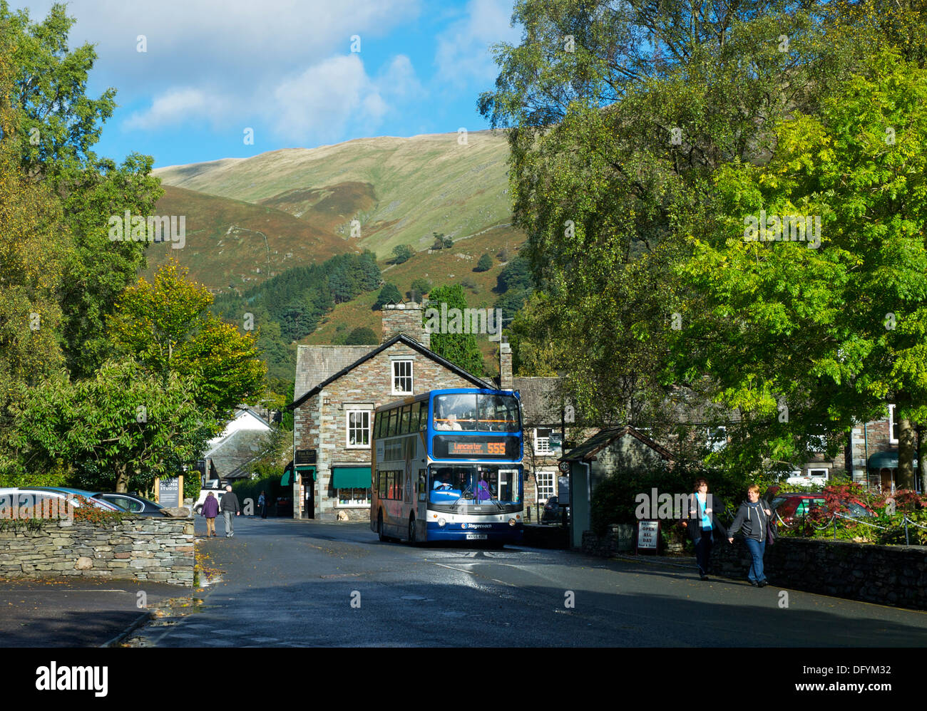
M 518 44 L 521 37 L 509 24 L 512 7 L 512 0 L 470 0 L 464 18 L 438 36 L 438 79 L 454 86 L 494 80 L 499 68 L 489 54 L 489 45 Z

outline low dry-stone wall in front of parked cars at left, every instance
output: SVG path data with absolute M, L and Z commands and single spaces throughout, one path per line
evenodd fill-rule
M 0 530 L 0 577 L 66 575 L 193 585 L 192 518 L 125 518 L 93 524 L 45 521 L 41 530 Z

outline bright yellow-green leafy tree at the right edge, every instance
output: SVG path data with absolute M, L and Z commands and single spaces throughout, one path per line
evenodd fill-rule
M 818 113 L 782 120 L 768 164 L 717 172 L 717 212 L 679 266 L 675 365 L 743 412 L 736 464 L 805 455 L 819 434 L 833 448 L 892 402 L 912 487 L 911 420 L 927 421 L 925 106 L 927 72 L 884 52 Z M 810 231 L 782 234 L 786 216 Z

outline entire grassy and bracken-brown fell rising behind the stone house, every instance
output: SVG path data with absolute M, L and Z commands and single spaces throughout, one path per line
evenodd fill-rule
M 504 266 L 498 255 L 515 256 L 526 239 L 510 225 L 507 158 L 502 132 L 478 131 L 466 144 L 458 143 L 456 133 L 365 138 L 159 168 L 155 174 L 165 188 L 159 215 L 186 216 L 186 246 L 152 245 L 147 276 L 175 257 L 191 278 L 220 295 L 217 304 L 237 305 L 274 275 L 289 280 L 298 270 L 288 270 L 369 249 L 383 280 L 400 293 L 424 277 L 433 286 L 461 283 L 469 306 L 491 307 L 500 296 L 493 291 Z M 360 236 L 351 235 L 354 219 Z M 453 246 L 429 254 L 433 232 L 450 237 Z M 399 244 L 411 244 L 417 254 L 393 265 L 389 260 Z M 484 254 L 492 257 L 492 267 L 474 271 Z M 335 298 L 333 310 L 309 304 L 318 327 L 313 322 L 315 330 L 298 342 L 287 334 L 298 326 L 294 318 L 309 296 L 287 296 L 286 305 L 269 308 L 260 317 L 261 338 L 273 374 L 292 377 L 296 343 L 343 343 L 357 328 L 378 335 L 381 313 L 372 308 L 377 292 Z M 477 341 L 487 373 L 496 372 L 495 343 L 486 336 Z

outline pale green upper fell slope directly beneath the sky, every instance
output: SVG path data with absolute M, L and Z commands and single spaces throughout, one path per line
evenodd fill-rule
M 380 258 L 506 226 L 511 209 L 502 131 L 362 138 L 250 158 L 155 170 L 166 185 L 285 211 Z M 350 221 L 360 222 L 359 238 Z

